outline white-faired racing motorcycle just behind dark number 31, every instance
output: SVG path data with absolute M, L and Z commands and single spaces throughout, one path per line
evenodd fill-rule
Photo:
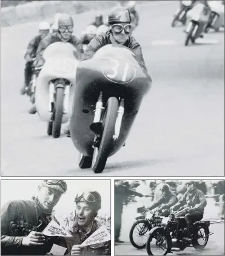
M 70 43 L 56 42 L 44 51 L 44 65 L 36 81 L 36 109 L 42 121 L 48 123 L 47 134 L 58 138 L 61 123 L 72 113 L 76 83 L 78 53 Z

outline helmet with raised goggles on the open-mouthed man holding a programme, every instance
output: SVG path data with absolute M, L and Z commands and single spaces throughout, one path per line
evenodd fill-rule
M 95 190 L 90 190 L 84 193 L 78 193 L 75 197 L 76 204 L 78 202 L 86 202 L 93 210 L 101 209 L 101 195 Z

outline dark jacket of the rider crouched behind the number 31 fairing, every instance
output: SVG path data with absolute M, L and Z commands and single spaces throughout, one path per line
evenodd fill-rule
M 90 41 L 90 43 L 87 46 L 87 49 L 86 49 L 86 51 L 83 55 L 82 60 L 88 60 L 88 59 L 92 58 L 92 56 L 95 54 L 95 52 L 98 49 L 100 49 L 102 46 L 106 46 L 106 44 L 116 44 L 116 41 L 113 38 L 113 35 L 112 35 L 110 30 L 95 36 L 95 38 L 93 38 L 92 41 Z M 141 60 L 141 67 L 144 69 L 144 71 L 147 72 L 146 64 L 144 63 L 144 58 L 143 58 L 141 46 L 135 40 L 135 38 L 133 38 L 133 36 L 129 35 L 129 38 L 126 41 L 126 43 L 124 44 L 124 46 L 133 50 L 133 52 Z

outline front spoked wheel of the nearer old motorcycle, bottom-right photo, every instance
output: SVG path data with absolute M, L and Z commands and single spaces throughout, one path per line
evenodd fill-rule
M 149 235 L 146 246 L 148 255 L 166 255 L 169 249 L 168 238 L 163 235 L 163 229 L 158 228 Z

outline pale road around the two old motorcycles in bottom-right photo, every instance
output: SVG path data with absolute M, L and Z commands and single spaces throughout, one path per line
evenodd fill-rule
M 135 221 L 135 217 L 138 216 L 136 207 L 138 206 L 135 203 L 123 207 L 121 235 L 119 239 L 124 241 L 124 243 L 116 244 L 115 255 L 147 255 L 146 248 L 136 249 L 129 240 L 130 228 Z M 220 208 L 215 206 L 213 198 L 208 198 L 207 206 L 204 210 L 204 220 L 212 221 L 212 219 L 218 219 L 219 211 Z M 168 255 L 224 255 L 224 221 L 210 224 L 209 231 L 214 234 L 209 236 L 209 241 L 203 251 L 198 252 L 193 247 L 187 247 L 184 251 L 173 252 L 173 254 Z

